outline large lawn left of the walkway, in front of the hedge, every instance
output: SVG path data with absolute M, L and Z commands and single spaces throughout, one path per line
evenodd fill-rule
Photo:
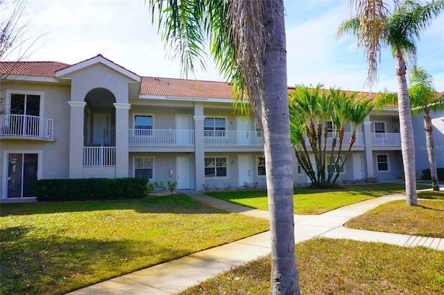
M 268 230 L 268 221 L 183 195 L 127 201 L 4 203 L 0 292 L 65 294 Z

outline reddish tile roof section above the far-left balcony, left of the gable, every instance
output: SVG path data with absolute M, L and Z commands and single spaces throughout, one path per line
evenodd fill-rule
M 24 76 L 56 77 L 55 72 L 70 65 L 63 62 L 0 62 L 0 73 Z

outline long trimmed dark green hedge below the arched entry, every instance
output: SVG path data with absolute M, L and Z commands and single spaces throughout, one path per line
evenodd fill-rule
M 35 182 L 37 201 L 136 199 L 146 196 L 144 178 L 40 179 Z

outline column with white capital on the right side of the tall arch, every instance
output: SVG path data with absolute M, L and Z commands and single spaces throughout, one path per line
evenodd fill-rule
M 128 110 L 130 103 L 113 103 L 116 108 L 116 178 L 128 177 Z

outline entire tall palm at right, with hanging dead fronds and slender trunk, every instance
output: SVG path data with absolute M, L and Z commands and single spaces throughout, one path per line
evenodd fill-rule
M 416 198 L 415 148 L 411 123 L 411 107 L 407 91 L 405 58 L 416 62 L 416 40 L 429 26 L 432 17 L 439 15 L 444 1 L 431 1 L 421 5 L 407 0 L 400 5 L 395 1 L 393 13 L 382 0 L 350 0 L 357 8 L 357 17 L 348 19 L 339 26 L 338 36 L 352 33 L 358 37 L 358 46 L 364 47 L 368 63 L 368 84 L 372 87 L 377 76 L 381 43 L 391 47 L 395 57 L 395 74 L 398 78 L 398 111 L 402 161 L 405 173 L 407 205 L 418 205 Z

